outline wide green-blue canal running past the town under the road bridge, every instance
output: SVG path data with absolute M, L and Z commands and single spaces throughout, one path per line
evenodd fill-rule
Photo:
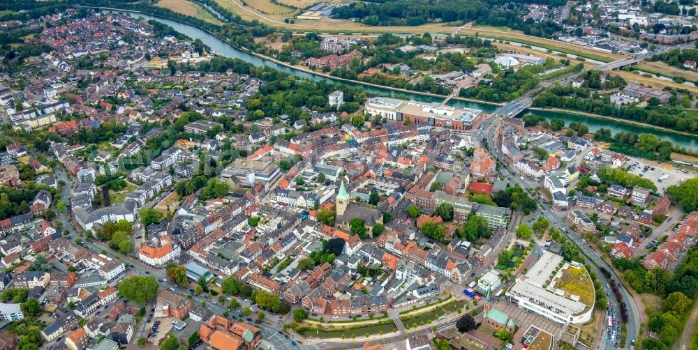
M 332 84 L 343 84 L 346 86 L 352 86 L 352 87 L 360 87 L 361 89 L 364 89 L 364 91 L 367 91 L 371 94 L 375 95 L 380 95 L 380 96 L 394 96 L 394 97 L 403 97 L 403 98 L 409 98 L 412 100 L 419 100 L 423 102 L 441 102 L 443 101 L 443 98 L 436 98 L 433 96 L 424 96 L 424 95 L 419 95 L 417 93 L 404 93 L 401 91 L 392 91 L 390 89 L 381 89 L 373 86 L 365 86 L 362 84 L 355 84 L 351 82 L 343 82 L 340 80 L 328 78 L 328 77 L 322 77 L 318 75 L 313 75 L 307 72 L 303 72 L 301 70 L 295 70 L 292 68 L 288 68 L 286 66 L 281 66 L 277 63 L 267 61 L 265 59 L 260 59 L 258 56 L 254 56 L 253 54 L 248 54 L 247 52 L 243 52 L 241 50 L 238 50 L 235 47 L 232 47 L 232 45 L 225 43 L 223 40 L 220 40 L 216 38 L 216 36 L 211 35 L 210 33 L 207 33 L 207 31 L 204 31 L 202 29 L 199 29 L 195 26 L 191 26 L 189 24 L 185 24 L 183 22 L 177 22 L 174 20 L 168 20 L 162 17 L 154 17 L 151 15 L 145 15 L 142 13 L 131 13 L 131 12 L 126 12 L 127 15 L 130 15 L 132 17 L 143 17 L 146 20 L 156 20 L 158 22 L 168 24 L 169 26 L 172 26 L 174 30 L 179 31 L 180 33 L 185 34 L 186 36 L 189 36 L 190 38 L 194 39 L 200 39 L 203 43 L 211 47 L 211 50 L 214 50 L 216 54 L 220 54 L 222 56 L 234 58 L 234 59 L 242 59 L 243 61 L 246 61 L 248 63 L 252 63 L 254 66 L 269 66 L 277 70 L 281 70 L 282 72 L 285 73 L 290 73 L 292 75 L 295 75 L 297 77 L 302 77 L 302 78 L 307 78 L 307 79 L 313 79 L 315 81 L 320 81 L 324 80 L 326 82 L 330 82 Z M 482 109 L 482 111 L 491 113 L 494 112 L 496 109 L 496 106 L 493 105 L 488 105 L 487 103 L 477 103 L 477 102 L 466 102 L 466 101 L 461 101 L 461 100 L 450 100 L 449 105 L 452 105 L 453 107 L 465 107 L 465 108 L 475 108 L 475 109 Z M 657 135 L 662 140 L 668 140 L 672 144 L 678 144 L 681 147 L 685 147 L 686 149 L 694 149 L 698 150 L 698 138 L 696 137 L 690 137 L 687 135 L 681 135 L 681 134 L 676 134 L 674 132 L 667 132 L 664 130 L 655 130 L 653 128 L 646 128 L 640 125 L 632 125 L 628 123 L 621 123 L 618 121 L 611 121 L 607 119 L 595 119 L 595 118 L 588 118 L 586 116 L 580 116 L 577 114 L 570 114 L 570 113 L 564 113 L 564 112 L 545 112 L 545 111 L 529 111 L 532 114 L 542 116 L 545 119 L 553 119 L 553 118 L 560 118 L 565 121 L 565 125 L 577 121 L 580 123 L 585 123 L 586 125 L 589 126 L 589 131 L 594 132 L 598 130 L 599 128 L 607 128 L 610 129 L 612 133 L 616 132 L 634 132 L 636 134 L 643 134 L 643 133 L 651 133 L 654 135 Z

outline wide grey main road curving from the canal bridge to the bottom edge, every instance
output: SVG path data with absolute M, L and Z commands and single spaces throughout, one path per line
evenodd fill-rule
M 518 174 L 510 172 L 510 170 L 506 166 L 505 161 L 503 160 L 500 150 L 496 148 L 496 144 L 494 143 L 494 133 L 496 132 L 496 129 L 498 128 L 498 124 L 500 122 L 501 118 L 499 116 L 492 116 L 487 121 L 482 123 L 480 130 L 477 133 L 478 139 L 487 139 L 487 142 L 490 147 L 489 153 L 491 153 L 494 156 L 494 158 L 498 160 L 498 162 L 500 162 L 501 164 L 499 168 L 500 174 L 507 178 L 507 180 L 510 181 L 512 185 L 518 184 L 521 186 L 521 188 L 536 188 L 536 183 L 529 183 L 528 181 L 522 180 Z M 565 234 L 567 239 L 570 239 L 570 241 L 574 242 L 574 244 L 576 244 L 579 247 L 582 254 L 584 254 L 584 256 L 593 263 L 591 264 L 592 271 L 594 271 L 601 284 L 603 284 L 604 286 L 609 284 L 609 280 L 607 280 L 607 278 L 600 271 L 600 268 L 606 268 L 608 271 L 611 271 L 611 274 L 614 273 L 613 270 L 606 264 L 606 262 L 603 261 L 600 257 L 598 257 L 598 255 L 595 252 L 593 252 L 591 248 L 589 248 L 589 246 L 583 239 L 581 239 L 577 234 L 574 234 L 569 225 L 567 225 L 567 222 L 560 218 L 560 216 L 556 212 L 554 212 L 547 203 L 541 201 L 540 197 L 535 197 L 535 200 L 538 202 L 538 205 L 541 208 L 544 218 L 547 218 L 547 220 L 550 222 L 550 225 L 553 227 L 558 227 L 558 229 L 560 229 L 560 231 L 562 231 L 563 234 Z M 616 277 L 615 275 L 614 278 L 618 280 L 618 277 Z M 630 349 L 632 340 L 635 340 L 637 338 L 639 329 L 637 325 L 640 324 L 640 319 L 633 298 L 630 296 L 630 294 L 628 294 L 628 291 L 625 290 L 625 288 L 623 288 L 622 284 L 619 284 L 619 286 L 621 286 L 621 296 L 623 297 L 623 301 L 625 302 L 625 305 L 628 307 L 628 322 L 625 325 L 627 328 L 625 348 Z M 611 303 L 619 305 L 618 300 L 616 300 L 614 294 L 612 293 L 609 296 L 609 305 L 611 305 Z

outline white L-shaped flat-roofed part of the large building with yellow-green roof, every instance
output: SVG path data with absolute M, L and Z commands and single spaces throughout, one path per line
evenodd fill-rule
M 560 264 L 563 264 L 563 257 L 544 252 L 526 275 L 517 277 L 506 292 L 507 300 L 526 312 L 534 312 L 560 324 L 582 324 L 590 320 L 593 305 L 581 303 L 578 297 L 577 300 L 567 298 L 565 291 L 552 287 Z

